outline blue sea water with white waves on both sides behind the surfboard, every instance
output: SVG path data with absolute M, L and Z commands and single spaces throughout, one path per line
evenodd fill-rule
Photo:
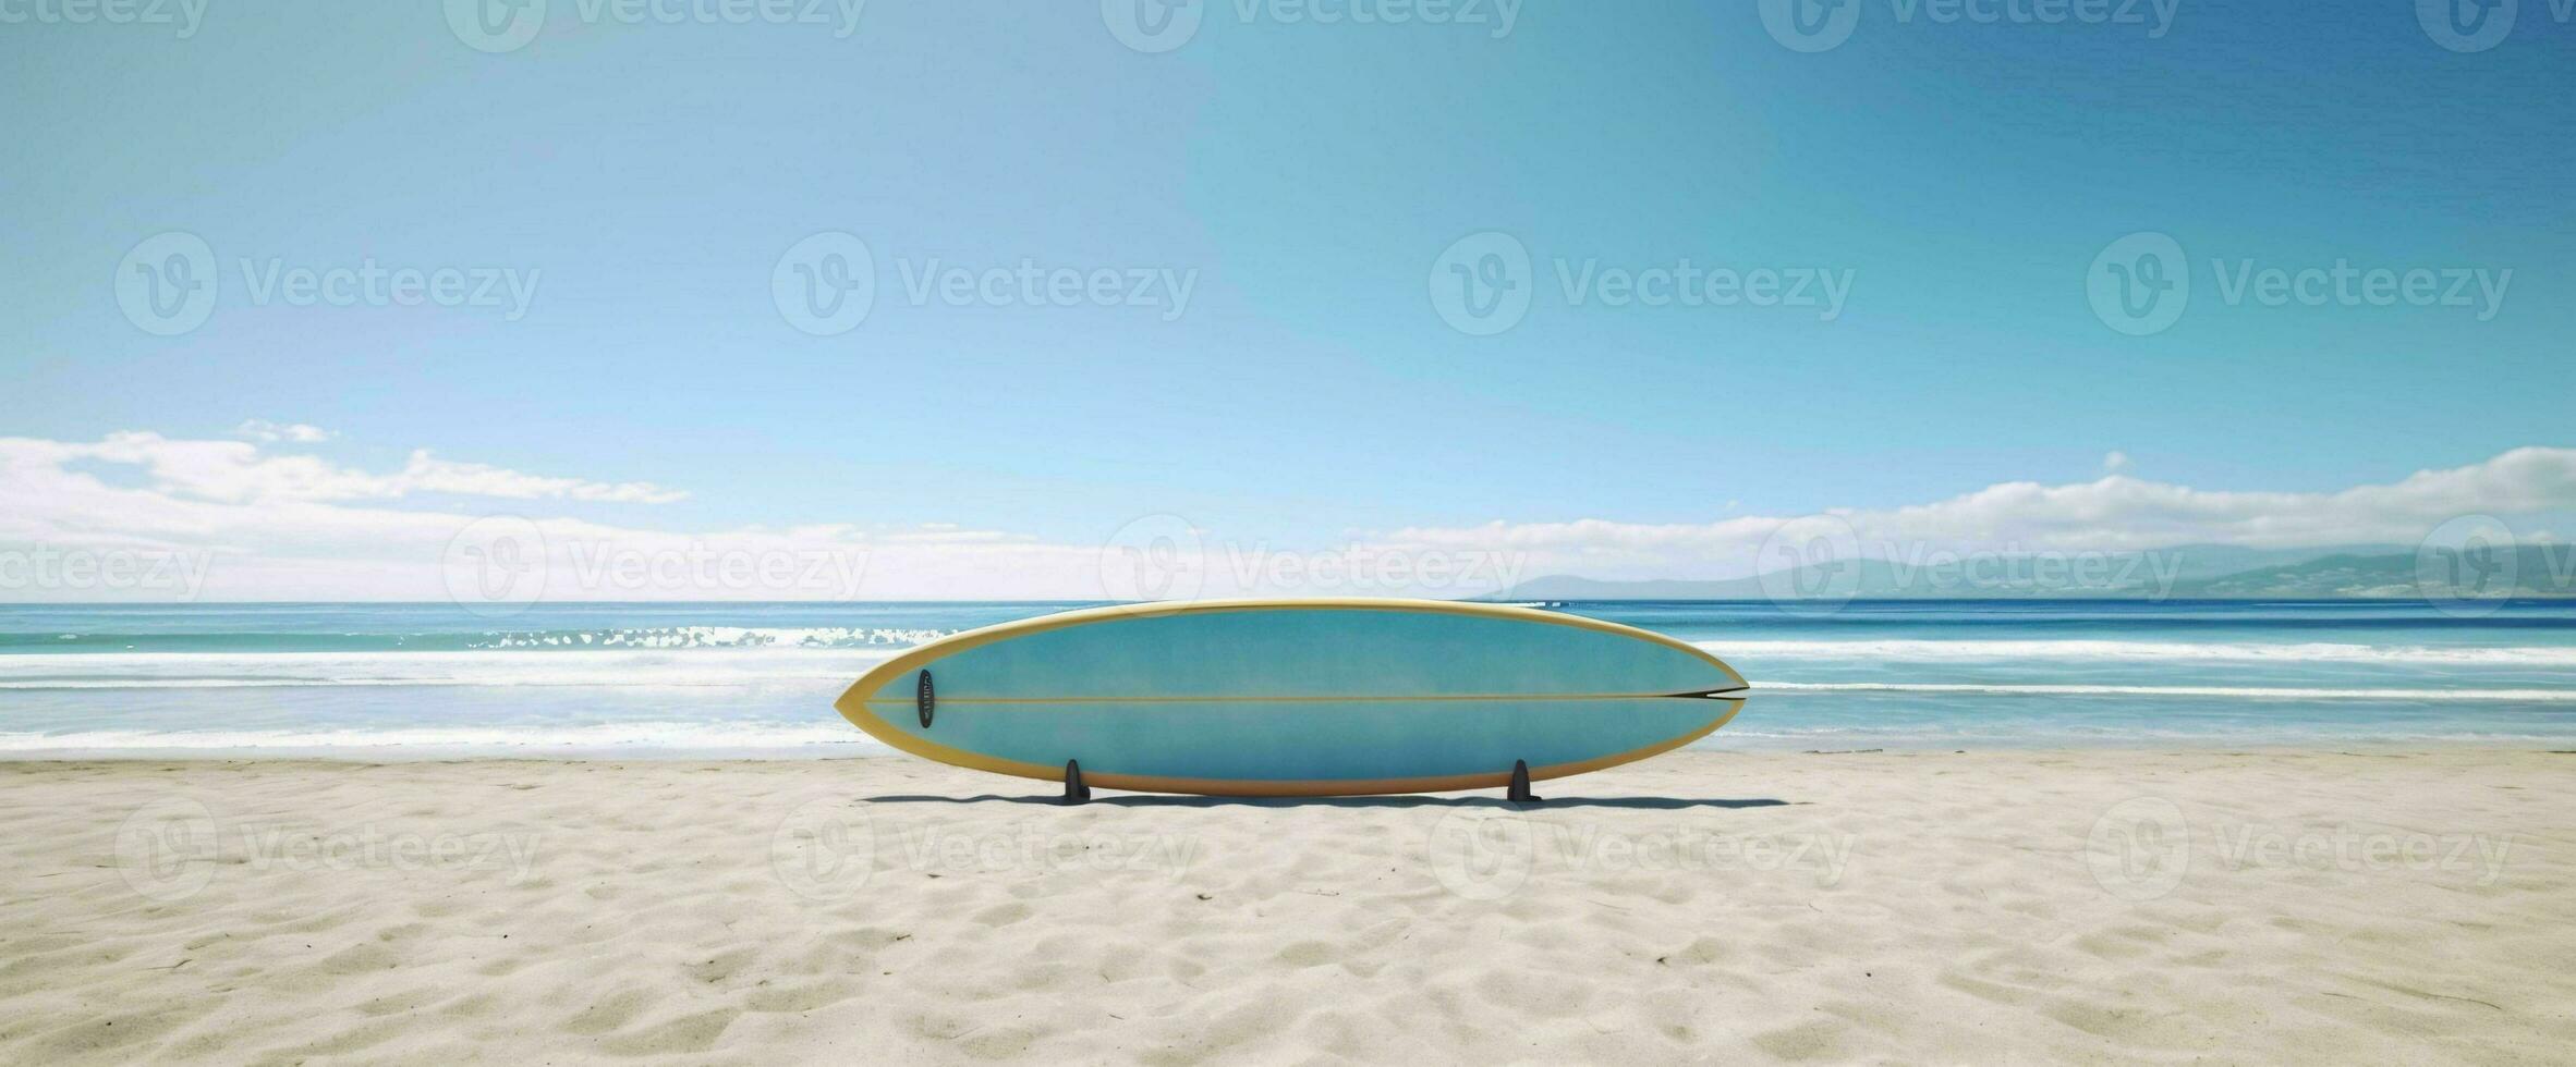
M 0 607 L 10 756 L 848 756 L 832 697 L 1082 604 Z M 1726 658 L 1703 748 L 2576 748 L 2576 604 L 1551 602 Z

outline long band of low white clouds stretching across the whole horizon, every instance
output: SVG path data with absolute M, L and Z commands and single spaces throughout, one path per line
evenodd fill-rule
M 95 465 L 139 478 L 108 478 Z M 139 483 L 137 483 L 139 481 Z M 482 507 L 407 509 L 412 494 Z M 1430 594 L 1471 596 L 1540 573 L 1597 578 L 1723 578 L 1752 573 L 1767 535 L 1793 517 L 1698 525 L 1615 519 L 1414 527 L 1321 550 L 1273 548 L 1257 532 L 1198 530 L 1175 517 L 1043 540 L 953 525 L 788 525 L 711 532 L 641 530 L 546 514 L 564 501 L 672 501 L 652 483 L 533 476 L 412 453 L 399 471 L 361 471 L 252 442 L 98 442 L 0 437 L 0 599 L 185 599 L 167 586 L 28 584 L 28 553 L 180 555 L 206 599 L 453 596 L 459 560 L 489 560 L 489 532 L 528 532 L 523 563 L 546 599 L 1105 599 L 1136 560 L 1177 537 L 1177 594 Z M 2202 491 L 2105 476 L 2087 483 L 1996 483 L 1893 509 L 1837 509 L 1865 548 L 2138 550 L 2172 545 L 2411 545 L 2458 514 L 2576 512 L 2576 450 L 2522 447 L 2450 471 L 2329 494 Z M 1136 535 L 1144 530 L 1144 535 Z M 2535 540 L 2543 525 L 2517 525 Z M 13 555 L 15 553 L 15 555 Z M 15 560 L 15 571 L 10 568 Z M 768 571 L 762 571 L 768 568 Z M 1425 586 L 1427 571 L 1445 578 Z M 1396 576 L 1396 578 L 1388 578 Z M 1404 581 L 1412 581 L 1409 586 Z M 1164 589 L 1164 586 L 1157 586 Z

